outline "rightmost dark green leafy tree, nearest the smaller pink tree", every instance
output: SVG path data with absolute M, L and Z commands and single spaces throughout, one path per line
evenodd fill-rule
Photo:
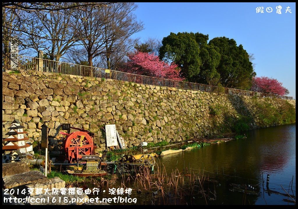
M 216 67 L 221 84 L 227 88 L 248 90 L 255 72 L 243 46 L 237 46 L 234 39 L 226 37 L 216 37 L 209 41 L 209 45 L 221 54 Z

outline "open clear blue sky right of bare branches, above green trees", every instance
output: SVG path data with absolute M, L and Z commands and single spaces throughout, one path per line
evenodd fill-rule
M 144 30 L 134 37 L 162 38 L 170 32 L 199 32 L 234 39 L 254 54 L 257 76 L 276 78 L 296 99 L 296 3 L 136 2 L 136 19 Z M 281 6 L 281 14 L 276 7 Z M 263 13 L 256 8 L 263 7 Z M 266 8 L 271 7 L 272 12 Z M 287 8 L 288 12 L 286 12 Z M 270 11 L 270 8 L 268 8 Z M 292 13 L 290 13 L 292 12 Z

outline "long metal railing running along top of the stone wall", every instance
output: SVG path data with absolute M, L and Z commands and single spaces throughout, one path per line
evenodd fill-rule
M 246 91 L 240 89 L 231 88 L 219 88 L 216 86 L 190 83 L 184 81 L 175 81 L 165 78 L 157 78 L 150 76 L 142 76 L 131 73 L 124 73 L 116 70 L 108 70 L 99 67 L 89 67 L 85 65 L 77 65 L 67 62 L 58 62 L 48 59 L 38 59 L 29 56 L 19 56 L 19 66 L 24 70 L 34 70 L 49 73 L 61 73 L 76 76 L 89 76 L 97 78 L 110 78 L 120 81 L 128 81 L 137 84 L 145 84 L 152 86 L 161 87 L 174 87 L 179 89 L 189 89 L 189 90 L 199 90 L 204 92 L 218 92 L 225 94 L 234 95 L 246 95 L 246 96 L 256 96 L 256 97 L 268 97 L 268 98 L 282 98 L 293 100 L 293 97 L 288 96 L 277 96 L 272 94 L 265 94 L 260 92 Z

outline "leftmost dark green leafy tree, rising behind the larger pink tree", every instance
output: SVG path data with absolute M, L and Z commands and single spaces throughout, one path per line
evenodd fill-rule
M 193 32 L 173 33 L 164 37 L 159 49 L 159 57 L 167 63 L 174 62 L 181 68 L 181 76 L 195 82 L 200 73 L 200 49 Z

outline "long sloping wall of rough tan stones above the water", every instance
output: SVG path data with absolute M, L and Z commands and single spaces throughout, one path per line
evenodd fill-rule
M 295 118 L 289 120 L 285 111 L 278 120 L 273 117 L 272 121 L 264 121 L 272 111 L 260 111 L 263 107 L 278 110 L 281 106 L 294 111 Z M 60 124 L 70 123 L 94 133 L 94 143 L 101 151 L 106 146 L 103 127 L 107 124 L 116 124 L 127 147 L 139 145 L 140 139 L 176 142 L 182 138 L 217 136 L 246 125 L 255 129 L 296 122 L 296 100 L 225 95 L 44 72 L 34 75 L 2 72 L 3 139 L 14 119 L 22 122 L 30 142 L 41 141 L 41 125 L 46 124 L 54 149 L 62 139 Z

